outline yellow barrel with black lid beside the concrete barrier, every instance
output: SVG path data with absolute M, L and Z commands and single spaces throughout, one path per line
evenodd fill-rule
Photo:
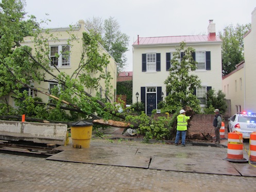
M 80 120 L 71 124 L 72 146 L 74 148 L 89 148 L 92 138 L 93 123 Z

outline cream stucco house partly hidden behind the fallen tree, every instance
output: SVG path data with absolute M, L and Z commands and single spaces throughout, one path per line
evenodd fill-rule
M 83 50 L 82 46 L 82 37 L 83 32 L 89 32 L 84 24 L 84 21 L 80 20 L 75 26 L 72 26 L 72 30 L 70 27 L 66 28 L 53 28 L 53 29 L 47 29 L 42 32 L 42 38 L 48 39 L 47 43 L 49 46 L 49 66 L 51 69 L 53 69 L 53 74 L 59 74 L 59 72 L 64 72 L 67 75 L 71 75 L 74 73 L 75 69 L 78 68 L 80 64 L 81 59 L 81 53 Z M 50 38 L 50 36 L 53 36 L 53 38 Z M 70 37 L 74 36 L 70 42 Z M 57 40 L 58 39 L 58 40 Z M 43 40 L 43 39 L 42 39 Z M 24 42 L 22 45 L 28 45 L 32 47 L 32 50 L 35 50 L 35 42 L 33 42 L 33 39 L 31 37 L 24 38 Z M 70 51 L 69 54 L 62 53 L 62 51 Z M 107 54 L 109 53 L 104 49 L 103 46 L 100 45 L 100 53 Z M 56 54 L 59 54 L 60 57 L 56 57 Z M 104 67 L 104 73 L 110 72 L 112 80 L 110 81 L 110 84 L 113 86 L 113 88 L 110 88 L 109 86 L 106 87 L 106 84 L 104 80 L 101 80 L 99 82 L 100 88 L 98 89 L 84 89 L 92 96 L 95 96 L 97 92 L 100 92 L 101 96 L 105 98 L 104 91 L 108 89 L 110 91 L 110 94 L 112 95 L 112 100 L 109 100 L 110 102 L 114 102 L 114 98 L 116 96 L 115 90 L 116 90 L 116 79 L 117 79 L 117 63 L 115 62 L 114 58 L 109 55 L 109 64 L 107 67 Z M 56 68 L 55 68 L 56 66 Z M 59 72 L 58 72 L 59 71 Z M 92 77 L 98 77 L 99 73 L 94 73 L 94 71 L 91 72 Z M 55 82 L 55 79 L 51 77 L 50 75 L 46 75 L 46 79 L 48 82 L 41 82 L 38 84 L 37 82 L 32 83 L 35 88 L 39 88 L 43 92 L 50 93 L 50 90 L 54 88 L 54 86 L 58 86 L 57 81 Z M 49 82 L 51 81 L 51 82 Z M 35 93 L 32 90 L 25 88 L 29 95 L 35 97 L 38 96 L 43 99 L 44 102 L 47 102 L 49 97 L 45 94 L 41 94 L 39 92 Z M 108 97 L 110 99 L 110 97 Z M 14 101 L 10 97 L 10 104 L 14 106 Z M 15 106 L 14 106 L 15 107 Z

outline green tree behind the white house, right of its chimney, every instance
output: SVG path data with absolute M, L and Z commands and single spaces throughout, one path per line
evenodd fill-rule
M 221 56 L 223 76 L 235 69 L 235 65 L 244 60 L 244 35 L 250 30 L 251 24 L 225 27 L 223 32 L 219 32 L 222 40 Z

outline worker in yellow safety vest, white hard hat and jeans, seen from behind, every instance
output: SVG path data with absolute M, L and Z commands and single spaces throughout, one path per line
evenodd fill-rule
M 181 146 L 185 147 L 186 131 L 187 131 L 187 120 L 190 119 L 190 116 L 185 115 L 185 110 L 180 110 L 180 114 L 177 116 L 177 133 L 175 138 L 175 145 L 179 144 L 180 135 L 181 135 Z

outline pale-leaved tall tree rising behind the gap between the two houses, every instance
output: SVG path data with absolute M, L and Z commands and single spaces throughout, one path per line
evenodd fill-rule
M 117 71 L 121 72 L 126 66 L 129 37 L 121 32 L 117 20 L 110 17 L 103 21 L 93 17 L 86 20 L 86 27 L 101 37 L 101 44 L 117 62 Z

